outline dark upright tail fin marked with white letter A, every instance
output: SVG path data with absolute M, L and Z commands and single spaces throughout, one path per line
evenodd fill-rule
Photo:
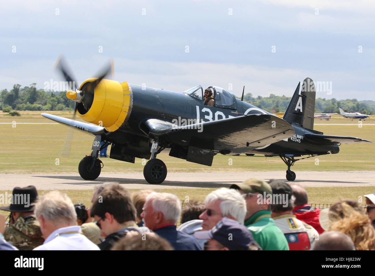
M 312 130 L 314 129 L 315 112 L 314 81 L 311 78 L 305 78 L 302 82 L 301 92 L 300 84 L 299 82 L 283 119 Z

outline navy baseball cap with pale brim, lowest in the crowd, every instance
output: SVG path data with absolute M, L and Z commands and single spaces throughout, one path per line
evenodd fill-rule
M 223 217 L 211 230 L 196 231 L 194 237 L 198 240 L 214 239 L 229 250 L 248 250 L 250 244 L 255 243 L 246 226 L 228 217 Z

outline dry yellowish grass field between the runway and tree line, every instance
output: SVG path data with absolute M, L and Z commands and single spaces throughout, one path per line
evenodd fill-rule
M 45 122 L 51 123 L 40 116 L 41 112 L 21 112 L 20 117 L 10 117 L 0 112 L 0 123 Z M 71 118 L 71 112 L 49 112 L 58 116 Z M 77 119 L 79 119 L 77 117 Z M 374 123 L 374 119 L 363 123 Z M 357 121 L 335 116 L 330 121 L 317 120 L 318 124 L 357 124 Z M 317 125 L 315 129 L 324 134 L 355 136 L 375 141 L 375 126 L 363 125 Z M 63 157 L 65 140 L 70 133 L 71 147 L 68 157 Z M 93 136 L 81 131 L 69 129 L 64 125 L 32 125 L 32 124 L 0 124 L 0 173 L 78 173 L 78 163 L 90 154 Z M 110 146 L 108 147 L 108 153 Z M 342 145 L 339 154 L 323 155 L 319 158 L 319 165 L 315 165 L 315 158 L 297 162 L 295 170 L 309 171 L 348 171 L 375 170 L 375 143 L 361 143 Z M 56 159 L 58 158 L 58 165 Z M 264 156 L 248 157 L 245 155 L 228 156 L 218 154 L 214 157 L 212 167 L 190 163 L 182 159 L 170 157 L 168 152 L 162 152 L 158 158 L 168 166 L 168 172 L 204 172 L 213 171 L 267 171 L 285 170 L 286 166 L 278 157 Z M 229 165 L 232 158 L 232 165 Z M 142 160 L 136 158 L 135 164 L 102 158 L 104 168 L 102 172 L 142 172 Z M 269 162 L 272 161 L 272 162 Z

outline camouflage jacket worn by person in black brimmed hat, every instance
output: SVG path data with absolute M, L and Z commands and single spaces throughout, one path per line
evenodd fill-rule
M 39 222 L 33 216 L 19 216 L 12 226 L 5 228 L 4 238 L 19 250 L 33 250 L 44 242 Z

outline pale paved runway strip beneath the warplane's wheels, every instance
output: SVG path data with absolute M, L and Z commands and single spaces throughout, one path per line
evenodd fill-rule
M 304 187 L 375 186 L 375 171 L 302 172 L 293 181 Z M 0 174 L 0 190 L 34 185 L 38 190 L 91 190 L 95 185 L 116 181 L 127 189 L 219 188 L 240 183 L 249 177 L 285 180 L 285 171 L 272 172 L 192 172 L 168 173 L 162 184 L 148 184 L 143 173 L 102 173 L 95 181 L 87 181 L 78 173 L 64 174 Z

